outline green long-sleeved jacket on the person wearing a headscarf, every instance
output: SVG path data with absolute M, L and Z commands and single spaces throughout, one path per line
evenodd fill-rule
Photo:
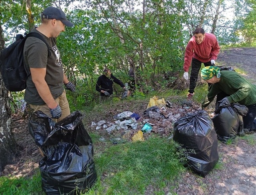
M 239 103 L 245 106 L 256 104 L 256 86 L 248 82 L 237 72 L 221 71 L 220 81 L 212 84 L 203 107 L 208 106 L 220 92 L 229 95 L 227 99 L 230 103 Z

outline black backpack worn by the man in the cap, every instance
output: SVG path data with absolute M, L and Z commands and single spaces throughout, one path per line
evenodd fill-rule
M 23 48 L 28 37 L 36 37 L 42 40 L 48 48 L 48 56 L 51 55 L 49 44 L 36 32 L 28 33 L 25 38 L 14 42 L 4 49 L 0 55 L 0 72 L 4 84 L 9 91 L 22 91 L 26 89 L 26 80 L 29 75 L 27 75 L 24 66 Z

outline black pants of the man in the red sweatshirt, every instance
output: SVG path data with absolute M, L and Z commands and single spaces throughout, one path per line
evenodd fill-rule
M 199 60 L 193 58 L 192 64 L 191 64 L 191 74 L 190 74 L 190 81 L 189 81 L 189 93 L 194 93 L 194 90 L 196 88 L 196 82 L 198 78 L 198 73 L 200 71 L 200 68 L 202 66 L 203 62 L 200 62 Z M 211 66 L 211 61 L 203 63 L 204 66 Z M 209 88 L 211 84 L 208 84 Z

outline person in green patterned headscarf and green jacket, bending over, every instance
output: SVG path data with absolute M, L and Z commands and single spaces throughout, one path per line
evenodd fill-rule
M 202 104 L 205 108 L 218 94 L 226 94 L 218 101 L 222 106 L 230 103 L 239 103 L 248 108 L 246 116 L 243 117 L 244 129 L 252 131 L 253 120 L 256 117 L 256 86 L 248 82 L 234 71 L 221 71 L 216 66 L 207 66 L 201 70 L 201 77 L 212 84 L 207 98 Z M 246 130 L 244 130 L 246 132 Z

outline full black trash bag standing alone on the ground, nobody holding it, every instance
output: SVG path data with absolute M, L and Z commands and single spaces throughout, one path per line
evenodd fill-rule
M 207 175 L 219 160 L 217 135 L 204 110 L 179 118 L 174 123 L 173 140 L 185 149 L 185 166 L 200 176 Z

